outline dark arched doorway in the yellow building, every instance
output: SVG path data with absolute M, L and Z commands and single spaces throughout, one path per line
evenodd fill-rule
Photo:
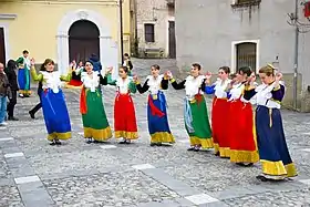
M 100 56 L 100 31 L 87 20 L 75 21 L 69 29 L 70 61 L 86 61 L 92 53 Z

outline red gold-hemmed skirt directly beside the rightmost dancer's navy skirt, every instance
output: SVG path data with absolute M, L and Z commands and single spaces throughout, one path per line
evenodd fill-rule
M 259 161 L 250 103 L 244 103 L 240 100 L 230 102 L 228 132 L 231 162 L 256 163 Z

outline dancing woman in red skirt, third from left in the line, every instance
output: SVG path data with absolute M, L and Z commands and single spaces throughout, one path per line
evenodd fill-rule
M 112 81 L 111 70 L 108 72 L 107 83 L 116 85 L 117 89 L 114 103 L 115 138 L 123 138 L 120 144 L 131 144 L 131 141 L 138 138 L 135 106 L 131 96 L 131 93 L 136 93 L 136 85 L 128 76 L 128 68 L 126 66 L 120 68 L 120 77 L 115 81 Z

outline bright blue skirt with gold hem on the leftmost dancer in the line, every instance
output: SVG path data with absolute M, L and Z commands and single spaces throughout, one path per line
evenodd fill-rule
M 71 138 L 71 123 L 63 92 L 54 93 L 51 89 L 41 94 L 44 121 L 49 133 L 48 139 Z

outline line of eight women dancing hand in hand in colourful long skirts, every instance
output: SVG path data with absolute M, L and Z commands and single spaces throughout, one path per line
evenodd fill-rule
M 41 104 L 51 145 L 61 145 L 60 139 L 71 138 L 71 123 L 61 90 L 62 81 L 72 82 L 72 71 L 61 75 L 54 71 L 54 62 L 46 59 L 37 73 L 31 60 L 31 75 L 42 85 Z M 279 180 L 297 175 L 283 133 L 280 103 L 285 95 L 281 73 L 268 64 L 259 70 L 261 84 L 249 66 L 230 75 L 228 66 L 218 70 L 218 79 L 211 82 L 211 73 L 202 74 L 202 68 L 192 65 L 190 75 L 176 82 L 167 71 L 161 74 L 158 65 L 151 66 L 151 75 L 142 84 L 131 76 L 128 66 L 118 69 L 118 77 L 112 80 L 112 68 L 94 71 L 93 63 L 86 61 L 81 72 L 80 112 L 82 114 L 84 138 L 87 143 L 106 142 L 112 138 L 112 130 L 106 118 L 102 101 L 101 85 L 115 85 L 114 137 L 120 144 L 131 144 L 138 138 L 133 93 L 148 92 L 147 121 L 151 146 L 173 144 L 166 97 L 164 90 L 169 82 L 175 90 L 185 90 L 184 122 L 190 147 L 198 152 L 215 148 L 215 155 L 230 158 L 240 166 L 251 166 L 260 161 L 260 180 Z M 211 123 L 204 94 L 213 94 Z M 256 105 L 255 113 L 252 112 Z

